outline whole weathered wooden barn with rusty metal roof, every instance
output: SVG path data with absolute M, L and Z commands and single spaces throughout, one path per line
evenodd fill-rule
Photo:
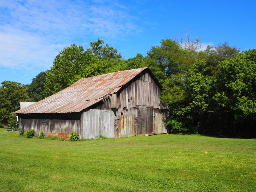
M 19 129 L 45 136 L 80 139 L 167 133 L 168 108 L 162 86 L 148 67 L 80 79 L 71 86 L 21 108 Z

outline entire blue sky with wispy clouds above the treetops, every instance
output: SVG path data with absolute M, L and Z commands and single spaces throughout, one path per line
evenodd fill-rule
M 124 59 L 144 56 L 188 31 L 204 46 L 256 48 L 256 2 L 172 0 L 1 0 L 0 83 L 30 84 L 72 43 L 103 39 Z

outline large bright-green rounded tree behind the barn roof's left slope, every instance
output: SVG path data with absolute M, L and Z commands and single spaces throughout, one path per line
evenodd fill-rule
M 91 76 L 93 70 L 88 66 L 95 61 L 95 57 L 85 52 L 81 45 L 72 44 L 64 48 L 54 59 L 51 69 L 46 72 L 46 96 L 61 91 L 82 77 Z

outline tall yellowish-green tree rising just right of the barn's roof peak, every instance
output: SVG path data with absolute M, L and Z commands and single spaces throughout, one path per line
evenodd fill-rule
M 163 85 L 162 99 L 172 109 L 185 98 L 184 80 L 194 58 L 172 39 L 164 39 L 160 46 L 147 52 L 145 63 Z

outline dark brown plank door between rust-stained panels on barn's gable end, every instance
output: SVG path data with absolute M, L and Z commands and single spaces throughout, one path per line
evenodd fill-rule
M 152 106 L 138 106 L 137 136 L 152 135 L 154 132 L 153 114 Z

